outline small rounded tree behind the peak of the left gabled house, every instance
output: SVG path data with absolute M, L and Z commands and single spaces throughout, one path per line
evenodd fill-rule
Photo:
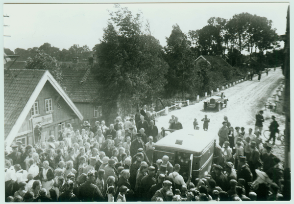
M 25 68 L 49 70 L 54 79 L 61 84 L 62 72 L 57 60 L 46 54 L 43 50 L 39 51 L 33 58 L 28 57 L 25 62 Z

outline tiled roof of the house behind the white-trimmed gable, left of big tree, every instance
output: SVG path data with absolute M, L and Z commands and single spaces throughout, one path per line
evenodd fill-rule
M 88 63 L 60 63 L 62 85 L 73 102 L 93 103 L 98 92 L 98 81 Z

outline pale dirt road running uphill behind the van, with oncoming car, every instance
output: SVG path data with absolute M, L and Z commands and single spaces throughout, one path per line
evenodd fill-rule
M 204 111 L 203 101 L 200 101 L 195 105 L 172 111 L 169 115 L 157 118 L 156 126 L 159 130 L 161 127 L 168 128 L 169 119 L 173 114 L 179 117 L 179 122 L 182 123 L 183 128 L 193 129 L 193 121 L 196 118 L 200 129 L 202 129 L 203 122 L 201 122 L 201 119 L 207 114 L 208 118 L 210 118 L 208 131 L 216 136 L 221 127 L 223 116 L 228 117 L 231 126 L 244 127 L 247 133 L 249 128 L 254 130 L 255 114 L 264 108 L 267 99 L 272 96 L 275 88 L 280 85 L 283 78 L 281 68 L 277 68 L 276 71 L 273 71 L 272 68 L 268 76 L 266 73 L 262 74 L 260 82 L 255 76 L 252 81 L 245 81 L 226 89 L 224 93 L 229 100 L 228 106 L 220 112 L 212 109 Z M 264 123 L 264 130 L 268 129 L 269 125 L 270 119 Z M 284 124 L 280 124 L 279 129 L 284 130 Z

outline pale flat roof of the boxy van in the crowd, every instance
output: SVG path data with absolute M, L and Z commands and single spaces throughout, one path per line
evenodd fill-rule
M 208 131 L 181 129 L 157 141 L 155 149 L 161 147 L 184 150 L 185 152 L 202 152 L 214 139 L 216 136 Z

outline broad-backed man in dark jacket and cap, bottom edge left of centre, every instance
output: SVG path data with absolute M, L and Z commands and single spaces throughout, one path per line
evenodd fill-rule
M 103 201 L 103 195 L 99 190 L 95 182 L 95 170 L 94 168 L 87 173 L 87 180 L 79 187 L 78 198 L 82 202 L 101 202 Z

